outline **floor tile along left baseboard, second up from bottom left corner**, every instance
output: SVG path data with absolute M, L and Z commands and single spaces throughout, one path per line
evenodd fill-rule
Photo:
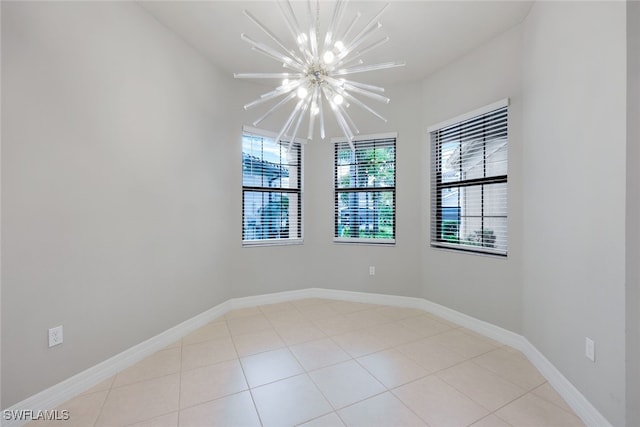
M 180 371 L 180 348 L 161 350 L 116 375 L 113 388 L 159 378 Z

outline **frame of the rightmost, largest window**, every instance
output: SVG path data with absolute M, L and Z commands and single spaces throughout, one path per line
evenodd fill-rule
M 505 98 L 500 101 L 481 107 L 479 109 L 476 109 L 474 111 L 471 111 L 469 113 L 449 119 L 445 122 L 430 126 L 428 128 L 427 131 L 429 133 L 429 144 L 430 144 L 430 152 L 431 152 L 431 161 L 430 161 L 430 169 L 431 169 L 431 173 L 430 173 L 430 176 L 431 176 L 430 242 L 431 242 L 431 247 L 438 248 L 438 249 L 448 249 L 456 252 L 467 252 L 467 253 L 475 253 L 475 254 L 481 254 L 481 255 L 504 257 L 504 258 L 508 256 L 508 249 L 509 249 L 508 248 L 509 246 L 508 245 L 508 241 L 509 241 L 509 207 L 508 207 L 509 106 L 510 106 L 509 98 Z M 442 144 L 442 141 L 438 139 L 438 136 L 437 136 L 438 132 L 442 131 L 443 129 L 455 127 L 458 125 L 463 126 L 464 124 L 467 124 L 474 120 L 481 119 L 491 114 L 495 114 L 496 112 L 500 112 L 502 110 L 504 110 L 505 117 L 504 117 L 504 121 L 502 120 L 500 121 L 500 124 L 504 126 L 504 132 L 506 134 L 506 141 L 504 143 L 506 146 L 506 150 L 505 150 L 506 159 L 504 160 L 506 163 L 505 173 L 499 174 L 499 175 L 496 174 L 496 175 L 486 176 L 487 146 L 489 143 L 495 142 L 498 139 L 497 138 L 483 139 L 482 143 L 479 145 L 481 145 L 482 152 L 483 152 L 483 162 L 484 162 L 483 167 L 485 170 L 485 173 L 483 175 L 485 176 L 480 178 L 468 178 L 468 179 L 461 179 L 458 181 L 445 182 L 443 180 L 442 173 L 440 173 L 440 165 L 438 164 L 439 159 L 441 158 L 440 155 L 438 154 L 438 150 L 440 149 Z M 504 197 L 506 198 L 506 201 L 505 201 L 506 213 L 503 216 L 495 216 L 495 215 L 492 216 L 492 215 L 485 214 L 485 207 L 487 206 L 487 204 L 485 203 L 485 200 L 484 200 L 484 189 L 485 189 L 485 186 L 494 185 L 494 184 L 504 184 L 505 186 Z M 461 242 L 460 241 L 461 238 L 459 236 L 458 236 L 458 242 L 445 240 L 442 237 L 443 233 L 440 232 L 445 221 L 444 208 L 446 207 L 442 205 L 441 190 L 447 189 L 447 188 L 458 188 L 458 189 L 466 190 L 466 189 L 471 189 L 473 187 L 478 187 L 478 186 L 481 188 L 481 199 L 480 199 L 481 202 L 479 205 L 481 214 L 479 217 L 481 218 L 481 223 L 482 223 L 481 230 L 480 230 L 480 233 L 482 234 L 482 239 L 483 239 L 482 244 L 475 245 L 475 244 L 470 244 L 467 241 Z M 458 207 L 458 209 L 460 209 L 460 207 Z M 493 218 L 493 217 L 496 217 L 496 218 L 499 217 L 499 218 L 505 219 L 506 241 L 505 241 L 504 250 L 500 248 L 491 247 L 491 246 L 484 246 L 485 244 L 485 238 L 484 238 L 485 222 L 484 221 L 485 221 L 485 218 Z M 494 237 L 494 241 L 495 241 L 495 237 Z

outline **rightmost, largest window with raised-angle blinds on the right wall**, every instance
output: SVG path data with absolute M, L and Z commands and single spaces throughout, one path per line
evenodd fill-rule
M 431 246 L 507 255 L 508 100 L 429 129 Z

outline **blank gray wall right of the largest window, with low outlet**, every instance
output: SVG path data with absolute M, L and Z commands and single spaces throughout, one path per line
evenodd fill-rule
M 625 21 L 624 2 L 537 2 L 523 49 L 523 332 L 614 425 L 625 423 Z

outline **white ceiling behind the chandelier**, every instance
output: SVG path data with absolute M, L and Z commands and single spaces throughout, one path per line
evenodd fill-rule
M 319 1 L 319 3 L 317 3 Z M 390 41 L 363 56 L 365 64 L 403 61 L 405 67 L 365 73 L 359 81 L 381 85 L 419 81 L 455 58 L 482 45 L 520 23 L 532 1 L 401 1 L 391 0 L 380 17 L 380 37 Z M 275 44 L 246 16 L 251 12 L 285 43 L 291 43 L 280 9 L 275 1 L 142 1 L 140 6 L 173 30 L 224 72 L 282 72 L 277 62 L 251 50 L 240 40 L 246 33 L 255 40 Z M 309 22 L 307 2 L 293 1 L 301 26 Z M 312 0 L 320 8 L 321 34 L 333 13 L 332 0 Z M 362 12 L 356 30 L 361 29 L 382 9 L 382 1 L 353 1 L 347 4 L 342 30 L 357 12 Z M 324 29 L 323 28 L 324 25 Z M 372 41 L 377 40 L 374 38 Z M 366 77 L 365 77 L 366 76 Z

